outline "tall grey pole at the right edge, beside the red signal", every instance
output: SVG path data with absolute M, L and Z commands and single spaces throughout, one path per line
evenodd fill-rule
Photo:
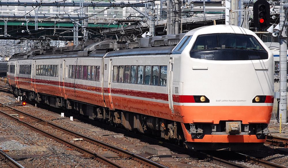
M 287 122 L 287 27 L 285 24 L 284 3 L 280 3 L 280 27 L 283 28 L 280 34 L 280 106 L 279 115 L 283 123 Z M 285 4 L 285 9 L 287 9 Z M 280 118 L 280 116 L 279 116 Z

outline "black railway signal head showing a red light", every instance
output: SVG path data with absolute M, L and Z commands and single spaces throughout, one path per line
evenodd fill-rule
M 270 4 L 266 0 L 257 0 L 253 4 L 253 22 L 256 28 L 263 29 L 270 24 Z

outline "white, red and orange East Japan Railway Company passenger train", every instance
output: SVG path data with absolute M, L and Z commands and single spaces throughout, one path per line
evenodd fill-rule
M 189 149 L 252 150 L 269 133 L 273 66 L 252 31 L 213 25 L 18 53 L 7 76 L 26 100 Z

